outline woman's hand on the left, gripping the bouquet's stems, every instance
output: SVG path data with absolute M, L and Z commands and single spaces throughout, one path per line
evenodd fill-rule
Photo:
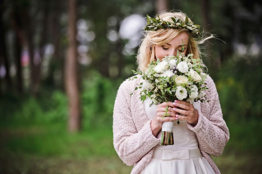
M 170 115 L 170 117 L 165 117 L 164 119 L 162 119 L 165 113 L 165 108 L 167 106 L 169 106 L 167 113 Z M 151 121 L 151 129 L 152 129 L 152 133 L 154 136 L 156 136 L 157 133 L 162 128 L 163 122 L 170 122 L 170 121 L 175 121 L 178 119 L 176 117 L 177 112 L 173 110 L 174 107 L 176 108 L 176 106 L 174 106 L 172 102 L 163 102 L 157 105 L 156 117 Z

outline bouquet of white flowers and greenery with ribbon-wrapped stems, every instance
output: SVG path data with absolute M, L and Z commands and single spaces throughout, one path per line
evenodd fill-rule
M 139 74 L 144 79 L 144 82 L 137 84 L 138 86 L 134 89 L 142 88 L 140 92 L 141 101 L 144 102 L 147 98 L 150 98 L 152 101 L 150 106 L 158 102 L 176 99 L 185 100 L 191 104 L 197 101 L 205 102 L 207 98 L 204 91 L 208 88 L 204 81 L 207 75 L 201 74 L 203 66 L 198 63 L 200 59 L 192 59 L 192 57 L 193 54 L 185 56 L 184 53 L 177 52 L 176 56 L 165 56 L 162 61 L 157 59 L 157 61 L 151 62 L 144 72 L 132 70 L 134 75 Z M 137 76 L 130 77 L 129 80 L 136 78 Z M 162 118 L 169 116 L 167 111 L 168 106 L 165 108 Z M 179 121 L 177 124 L 179 124 Z M 173 126 L 173 121 L 163 122 L 160 141 L 162 146 L 174 144 Z

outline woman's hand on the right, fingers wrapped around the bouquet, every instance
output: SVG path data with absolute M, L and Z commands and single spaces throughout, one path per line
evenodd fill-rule
M 184 109 L 182 110 L 178 108 L 173 108 L 174 111 L 185 115 L 185 116 L 181 116 L 177 114 L 176 115 L 177 118 L 187 120 L 187 122 L 192 124 L 193 126 L 197 125 L 198 113 L 197 113 L 197 110 L 194 108 L 193 104 L 186 102 L 186 101 L 182 101 L 182 100 L 175 100 L 173 105 L 175 107 Z

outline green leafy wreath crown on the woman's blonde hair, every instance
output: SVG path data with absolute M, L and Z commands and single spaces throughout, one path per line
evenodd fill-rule
M 188 18 L 185 18 L 185 21 L 181 17 L 170 17 L 173 22 L 170 21 L 163 21 L 163 19 L 160 19 L 159 15 L 157 15 L 158 19 L 150 17 L 148 14 L 146 15 L 147 23 L 146 26 L 144 26 L 144 31 L 157 31 L 160 28 L 161 29 L 170 29 L 170 28 L 186 28 L 188 29 L 194 37 L 199 37 L 201 34 L 200 25 L 197 25 L 193 22 L 189 22 Z

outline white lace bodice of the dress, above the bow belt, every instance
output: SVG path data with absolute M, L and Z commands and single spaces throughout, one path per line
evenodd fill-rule
M 144 101 L 145 111 L 148 119 L 153 119 L 156 116 L 157 105 L 151 104 L 151 100 L 147 98 Z M 160 103 L 158 103 L 160 104 Z M 200 102 L 194 102 L 194 107 L 201 110 Z M 177 124 L 177 121 L 180 124 Z M 174 121 L 173 126 L 173 136 L 174 145 L 160 146 L 160 143 L 155 146 L 157 149 L 164 150 L 183 150 L 183 149 L 195 149 L 198 148 L 198 140 L 196 134 L 187 127 L 187 121 L 183 119 L 178 119 Z

